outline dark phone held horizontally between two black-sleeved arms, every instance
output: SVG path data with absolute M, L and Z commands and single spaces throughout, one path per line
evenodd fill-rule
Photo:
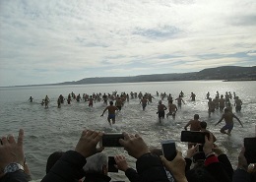
M 123 134 L 120 134 L 120 133 L 103 134 L 102 139 L 99 142 L 99 146 L 107 147 L 107 148 L 122 148 L 122 146 L 119 143 L 119 139 L 124 139 Z

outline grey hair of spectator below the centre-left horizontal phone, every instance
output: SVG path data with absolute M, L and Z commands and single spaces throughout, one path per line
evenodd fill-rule
M 108 158 L 103 152 L 87 157 L 87 163 L 83 169 L 86 173 L 102 173 L 102 167 L 107 166 Z

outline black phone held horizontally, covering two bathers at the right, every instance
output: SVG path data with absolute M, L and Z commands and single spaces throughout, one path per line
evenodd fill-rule
M 205 144 L 205 136 L 210 137 L 208 132 L 181 131 L 181 142 Z

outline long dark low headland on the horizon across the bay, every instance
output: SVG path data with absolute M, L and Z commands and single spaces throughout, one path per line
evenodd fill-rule
M 139 75 L 133 77 L 96 77 L 85 78 L 80 81 L 64 82 L 58 84 L 30 85 L 30 86 L 59 86 L 59 85 L 89 85 L 89 84 L 110 84 L 110 83 L 140 83 L 140 82 L 170 82 L 170 81 L 210 81 L 221 80 L 224 82 L 256 81 L 256 66 L 239 67 L 223 66 L 208 68 L 199 72 L 170 73 Z M 23 86 L 23 87 L 30 87 Z M 19 87 L 19 86 L 17 86 Z

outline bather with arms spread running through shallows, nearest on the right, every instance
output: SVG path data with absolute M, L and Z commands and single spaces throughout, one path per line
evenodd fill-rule
M 228 108 L 224 109 L 224 114 L 223 114 L 222 118 L 218 121 L 218 123 L 215 124 L 215 126 L 217 126 L 219 123 L 221 123 L 224 120 L 225 121 L 225 125 L 221 129 L 221 133 L 230 136 L 231 135 L 231 131 L 233 129 L 233 118 L 237 119 L 237 121 L 243 127 L 240 119 L 238 117 L 236 117 L 232 112 L 230 112 Z M 225 130 L 227 130 L 227 132 L 225 132 Z

